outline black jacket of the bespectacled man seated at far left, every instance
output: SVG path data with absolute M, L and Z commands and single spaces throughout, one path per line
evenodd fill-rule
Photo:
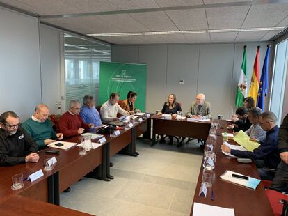
M 22 128 L 13 135 L 0 128 L 0 167 L 24 163 L 27 155 L 37 151 L 37 144 Z

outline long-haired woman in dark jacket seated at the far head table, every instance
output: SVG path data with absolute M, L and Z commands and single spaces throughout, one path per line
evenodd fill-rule
M 177 114 L 177 111 L 182 111 L 181 106 L 176 102 L 176 95 L 170 94 L 168 96 L 167 102 L 164 103 L 163 108 L 161 112 L 158 113 L 158 115 L 161 114 Z M 173 144 L 173 136 L 169 136 L 169 145 Z M 160 143 L 165 143 L 164 135 L 161 135 Z

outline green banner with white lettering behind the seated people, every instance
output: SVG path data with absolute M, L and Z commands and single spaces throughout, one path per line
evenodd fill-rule
M 145 111 L 147 65 L 100 62 L 99 105 L 113 92 L 125 100 L 129 91 L 137 93 L 136 109 Z

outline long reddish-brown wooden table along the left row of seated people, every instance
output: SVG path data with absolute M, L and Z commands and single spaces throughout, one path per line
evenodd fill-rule
M 45 153 L 45 149 L 38 151 L 40 158 L 37 163 L 26 162 L 12 167 L 0 167 L 0 203 L 12 196 L 21 195 L 59 205 L 59 193 L 87 174 L 92 178 L 110 180 L 113 178 L 110 175 L 110 157 L 125 147 L 127 147 L 128 155 L 135 156 L 136 137 L 150 130 L 149 122 L 150 118 L 143 118 L 143 121 L 134 123 L 131 128 L 120 130 L 120 134 L 116 137 L 105 134 L 106 141 L 99 147 L 87 151 L 86 155 L 79 155 L 77 146 L 67 151 L 58 149 L 58 154 Z M 65 139 L 65 141 L 79 144 L 81 139 L 79 135 Z M 97 142 L 98 139 L 92 141 Z M 32 173 L 43 170 L 44 160 L 51 157 L 56 157 L 57 160 L 53 170 L 43 171 L 44 175 L 33 182 L 27 180 Z M 24 178 L 24 187 L 19 190 L 11 189 L 11 177 L 15 173 L 22 173 Z

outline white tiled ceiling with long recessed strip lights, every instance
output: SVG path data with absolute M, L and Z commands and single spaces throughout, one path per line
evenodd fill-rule
M 288 26 L 288 1 L 280 0 L 0 0 L 0 2 L 34 13 L 40 17 L 41 22 L 82 34 Z M 106 36 L 99 39 L 115 44 L 225 43 L 266 41 L 278 33 L 280 31 L 183 33 Z

